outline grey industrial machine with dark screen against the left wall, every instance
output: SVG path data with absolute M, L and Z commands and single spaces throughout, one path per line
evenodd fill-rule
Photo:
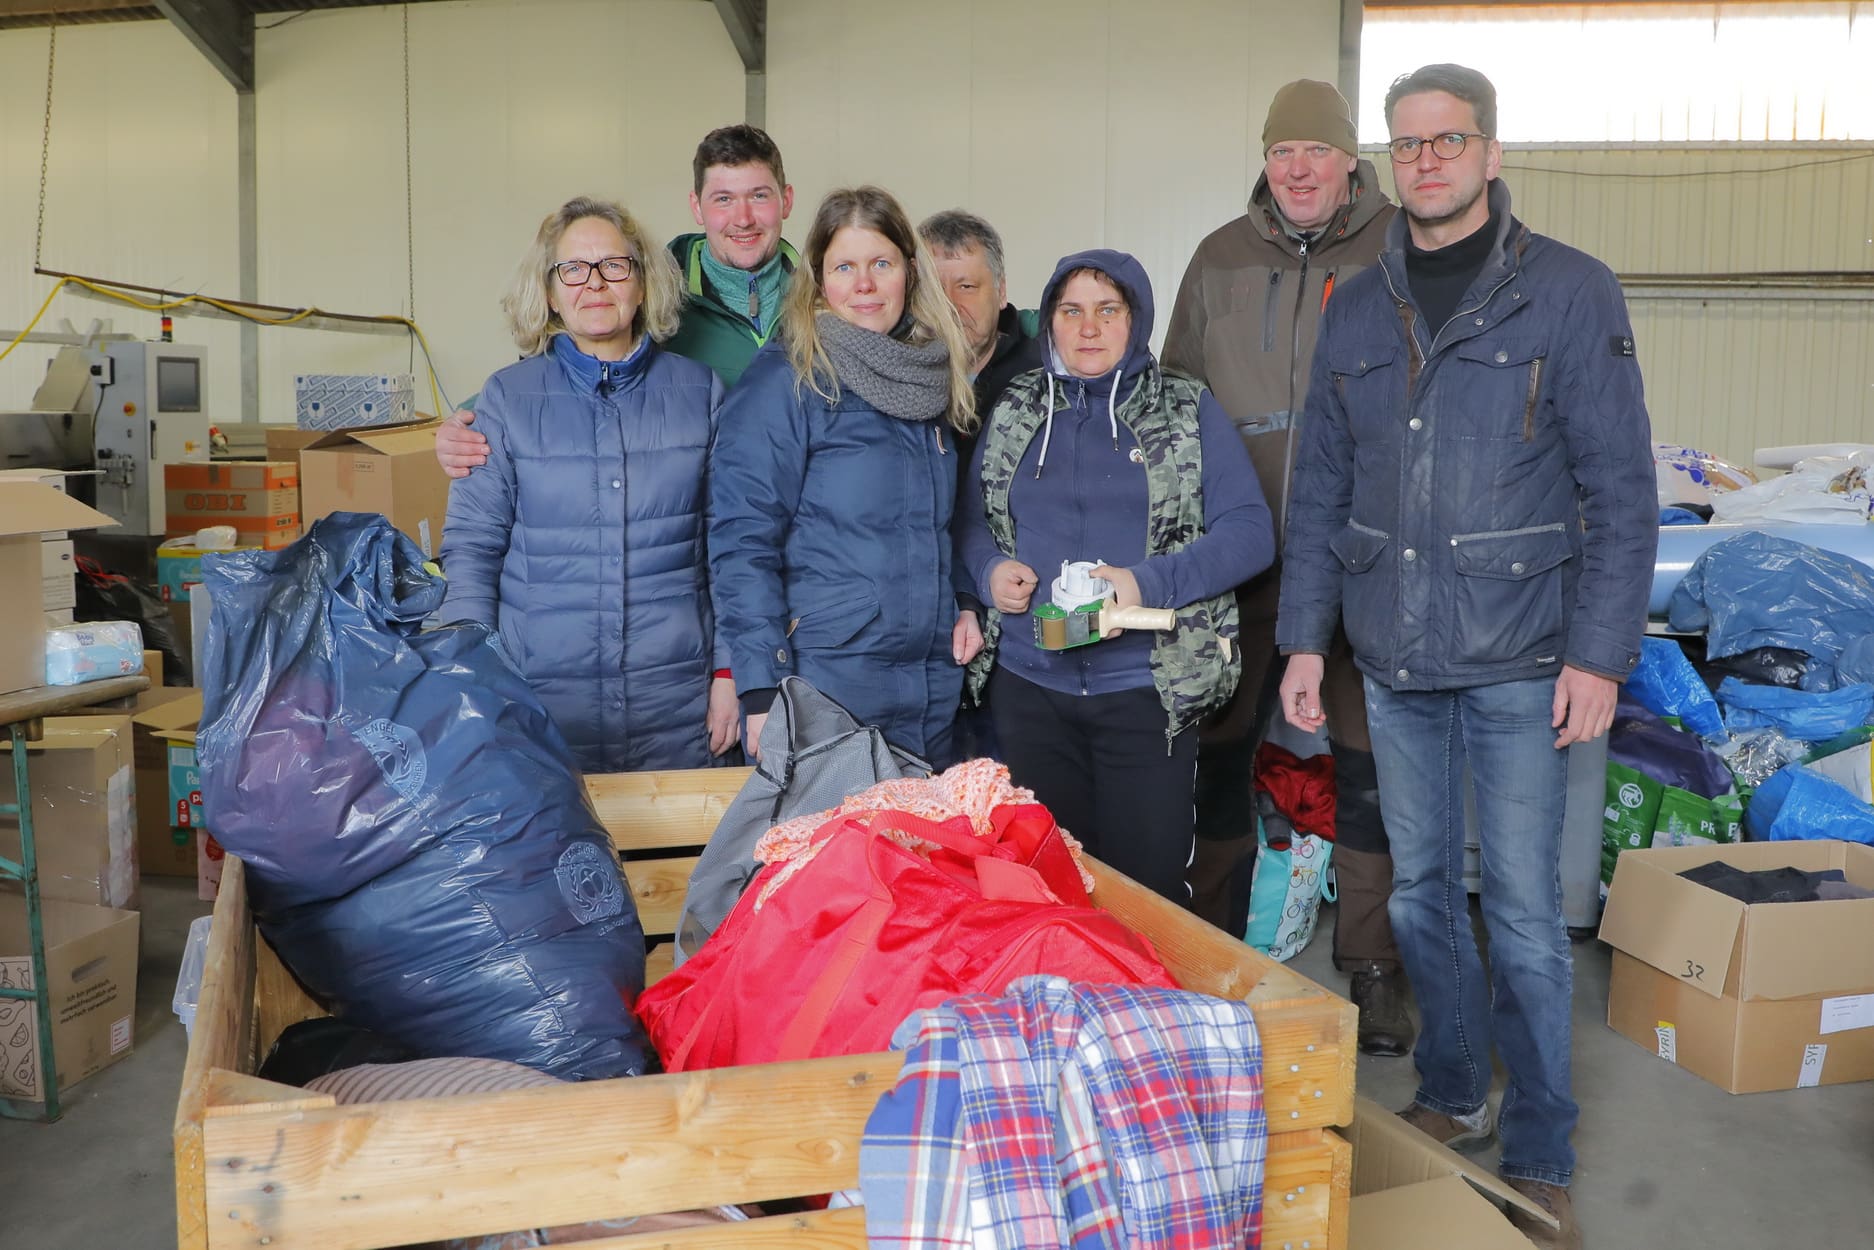
M 32 410 L 0 414 L 0 467 L 96 470 L 114 534 L 161 538 L 163 465 L 206 461 L 208 427 L 204 349 L 88 335 L 52 358 Z

